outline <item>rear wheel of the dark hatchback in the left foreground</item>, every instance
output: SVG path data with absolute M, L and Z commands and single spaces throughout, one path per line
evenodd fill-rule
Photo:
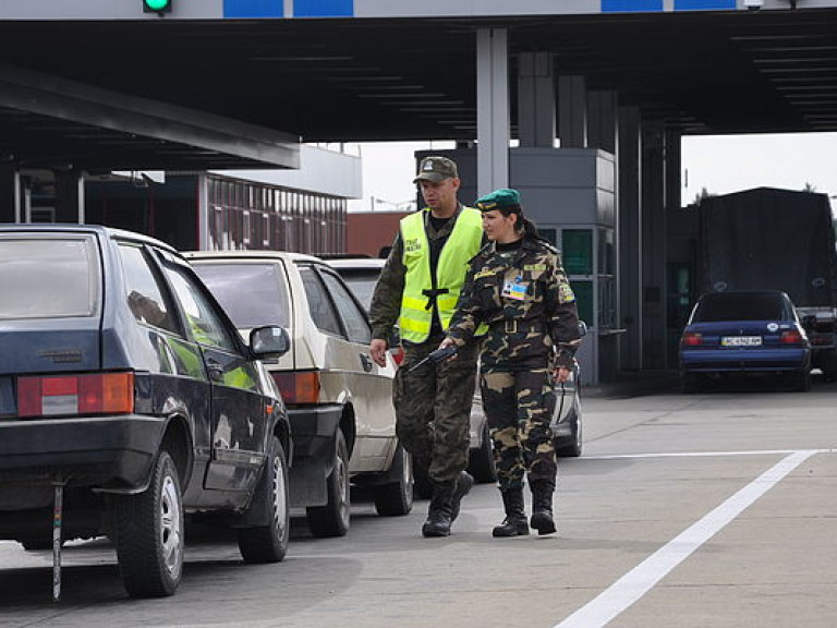
M 168 451 L 157 457 L 148 488 L 114 497 L 113 542 L 129 595 L 174 593 L 183 575 L 183 503 Z

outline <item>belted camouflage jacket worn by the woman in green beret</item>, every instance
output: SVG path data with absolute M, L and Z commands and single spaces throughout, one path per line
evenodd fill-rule
M 524 238 L 520 247 L 497 251 L 490 243 L 471 259 L 448 337 L 457 345 L 488 325 L 483 363 L 547 359 L 570 366 L 581 342 L 575 295 L 558 251 Z

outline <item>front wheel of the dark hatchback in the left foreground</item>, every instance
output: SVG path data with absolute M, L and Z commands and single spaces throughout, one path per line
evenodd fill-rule
M 262 480 L 253 497 L 255 504 L 267 504 L 270 523 L 240 528 L 239 550 L 245 563 L 279 563 L 288 552 L 290 508 L 288 506 L 288 461 L 282 444 L 276 436 L 265 461 Z

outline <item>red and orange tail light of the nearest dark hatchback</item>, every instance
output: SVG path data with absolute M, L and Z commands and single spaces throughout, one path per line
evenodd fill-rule
M 134 374 L 17 378 L 17 415 L 123 414 L 134 411 Z

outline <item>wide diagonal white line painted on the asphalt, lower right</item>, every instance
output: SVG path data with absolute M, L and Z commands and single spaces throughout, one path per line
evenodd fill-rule
M 640 600 L 793 469 L 820 450 L 796 451 L 762 473 L 703 519 L 666 543 L 555 628 L 602 628 Z

